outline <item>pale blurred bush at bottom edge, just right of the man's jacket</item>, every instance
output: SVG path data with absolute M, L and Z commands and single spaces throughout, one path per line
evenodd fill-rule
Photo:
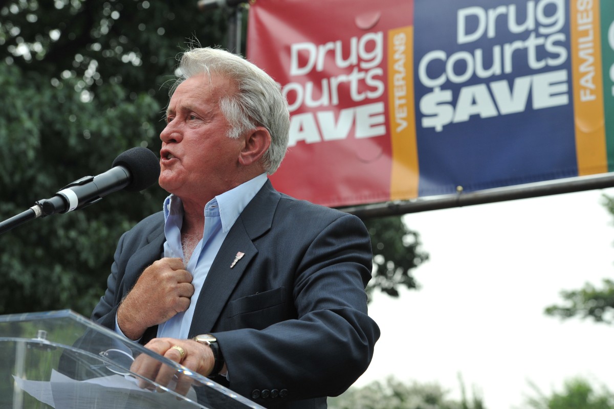
M 437 383 L 405 384 L 394 377 L 385 383 L 375 381 L 362 388 L 350 388 L 338 397 L 328 398 L 330 409 L 484 409 L 474 396 L 471 402 L 449 399 Z

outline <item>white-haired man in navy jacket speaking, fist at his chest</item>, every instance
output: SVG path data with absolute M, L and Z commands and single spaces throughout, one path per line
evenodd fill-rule
M 379 337 L 368 232 L 271 186 L 289 129 L 271 77 L 214 48 L 179 69 L 160 134 L 170 195 L 123 234 L 92 318 L 265 407 L 325 408 Z

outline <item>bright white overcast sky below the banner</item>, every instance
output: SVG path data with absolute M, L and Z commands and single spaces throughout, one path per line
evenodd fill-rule
M 382 336 L 363 386 L 394 375 L 437 381 L 459 398 L 478 388 L 489 409 L 526 407 L 578 375 L 614 391 L 614 326 L 546 316 L 561 289 L 614 278 L 613 218 L 600 204 L 614 189 L 406 215 L 430 260 L 419 291 L 377 295 Z

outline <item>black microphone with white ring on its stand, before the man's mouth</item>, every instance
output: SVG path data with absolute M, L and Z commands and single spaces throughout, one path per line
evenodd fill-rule
M 0 234 L 31 219 L 84 208 L 120 189 L 139 191 L 148 188 L 159 176 L 160 161 L 153 152 L 142 147 L 131 148 L 117 156 L 106 172 L 80 178 L 64 186 L 53 197 L 37 201 L 25 212 L 2 221 Z

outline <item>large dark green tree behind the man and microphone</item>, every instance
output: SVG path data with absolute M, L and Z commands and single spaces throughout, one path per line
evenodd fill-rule
M 195 38 L 223 45 L 226 18 L 195 0 L 0 0 L 0 220 L 104 172 L 128 148 L 157 153 L 175 56 Z M 165 196 L 157 186 L 115 193 L 0 235 L 0 314 L 88 316 L 120 235 Z M 392 295 L 395 283 L 415 286 L 409 270 L 426 259 L 414 254 L 418 235 L 398 218 L 373 222 L 386 235 L 374 238 L 386 261 L 376 285 Z

